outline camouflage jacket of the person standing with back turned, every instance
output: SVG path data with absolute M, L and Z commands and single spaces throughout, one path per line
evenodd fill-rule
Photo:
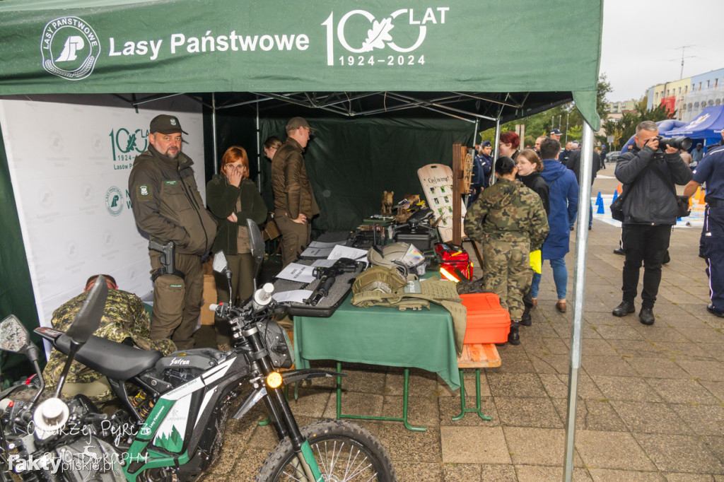
M 465 215 L 465 233 L 473 240 L 530 242 L 531 251 L 541 248 L 548 229 L 540 196 L 503 178 L 483 190 Z

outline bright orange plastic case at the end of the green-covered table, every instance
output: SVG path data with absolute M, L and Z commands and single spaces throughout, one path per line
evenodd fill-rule
M 510 314 L 500 306 L 494 293 L 460 295 L 468 310 L 463 344 L 505 343 L 510 332 Z

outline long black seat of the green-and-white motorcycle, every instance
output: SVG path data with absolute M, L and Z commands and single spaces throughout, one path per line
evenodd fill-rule
M 70 338 L 62 335 L 55 340 L 55 346 L 68 354 L 70 352 Z M 83 365 L 98 373 L 103 373 L 111 380 L 126 381 L 153 368 L 156 362 L 163 357 L 156 350 L 140 350 L 126 344 L 111 342 L 108 339 L 91 336 L 75 355 Z

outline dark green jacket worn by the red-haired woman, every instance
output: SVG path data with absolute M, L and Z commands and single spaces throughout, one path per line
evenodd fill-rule
M 241 211 L 236 210 L 237 199 L 241 200 Z M 214 174 L 206 185 L 206 206 L 219 221 L 214 240 L 214 253 L 223 250 L 227 255 L 238 254 L 237 237 L 239 227 L 246 227 L 246 220 L 256 224 L 266 221 L 266 204 L 250 179 L 242 179 L 239 187 L 229 183 L 225 174 Z M 227 219 L 236 213 L 237 222 Z

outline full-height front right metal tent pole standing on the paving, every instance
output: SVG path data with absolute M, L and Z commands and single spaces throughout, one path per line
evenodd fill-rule
M 565 463 L 563 481 L 573 477 L 573 445 L 576 439 L 576 402 L 578 368 L 581 368 L 582 325 L 586 296 L 586 242 L 588 242 L 591 174 L 593 169 L 593 130 L 584 122 L 581 146 L 581 175 L 578 177 L 578 225 L 576 226 L 576 268 L 573 271 L 573 327 L 571 329 L 571 365 L 568 367 L 568 410 L 565 415 Z

